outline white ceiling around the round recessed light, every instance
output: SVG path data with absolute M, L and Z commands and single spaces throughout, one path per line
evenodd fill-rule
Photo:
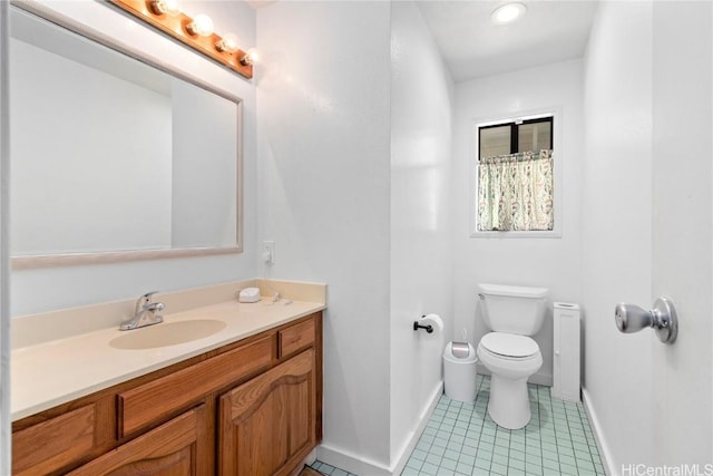
M 456 82 L 580 58 L 596 1 L 519 0 L 527 7 L 511 25 L 492 25 L 502 0 L 418 0 L 426 23 Z

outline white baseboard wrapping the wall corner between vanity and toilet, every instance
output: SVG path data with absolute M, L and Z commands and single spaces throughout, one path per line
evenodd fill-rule
M 418 426 L 408 436 L 407 443 L 403 445 L 400 455 L 394 458 L 394 464 L 385 466 L 382 463 L 360 457 L 343 448 L 336 448 L 324 443 L 318 446 L 316 458 L 322 463 L 326 463 L 328 465 L 335 466 L 360 476 L 392 476 L 401 474 L 409 460 L 409 456 L 411 456 L 413 448 L 416 448 L 416 445 L 418 444 L 423 428 L 426 428 L 429 418 L 431 418 L 441 394 L 443 394 L 442 380 L 433 389 L 428 405 L 420 415 Z

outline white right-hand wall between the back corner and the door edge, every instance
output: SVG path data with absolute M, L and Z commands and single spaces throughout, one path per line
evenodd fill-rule
M 617 302 L 652 304 L 652 67 L 651 2 L 602 3 L 586 56 L 584 387 L 615 473 L 653 462 L 656 428 L 657 342 L 613 319 Z

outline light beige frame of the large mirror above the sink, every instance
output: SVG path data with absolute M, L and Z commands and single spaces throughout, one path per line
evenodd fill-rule
M 70 19 L 57 11 L 49 9 L 32 0 L 10 0 L 10 6 L 19 8 L 26 12 L 29 12 L 40 19 L 55 23 L 61 28 L 65 28 L 76 35 L 80 35 L 91 41 L 95 41 L 101 46 L 114 49 L 123 55 L 141 61 L 150 67 L 157 68 L 168 75 L 172 75 L 178 79 L 183 79 L 189 84 L 193 84 L 199 88 L 206 89 L 213 94 L 216 94 L 225 99 L 232 100 L 237 105 L 237 161 L 235 177 L 236 184 L 236 243 L 234 246 L 206 246 L 206 247 L 176 247 L 176 249 L 155 249 L 155 250 L 120 250 L 120 251 L 107 251 L 107 252 L 90 252 L 90 253 L 58 253 L 58 254 L 37 254 L 37 255 L 20 255 L 10 256 L 12 263 L 12 270 L 27 270 L 38 268 L 53 268 L 53 266 L 72 266 L 72 265 L 87 265 L 87 264 L 102 264 L 102 263 L 118 263 L 126 261 L 147 261 L 147 260 L 162 260 L 162 259 L 175 259 L 175 258 L 189 258 L 189 256 L 207 256 L 214 254 L 228 254 L 228 253 L 242 253 L 243 252 L 243 99 L 229 94 L 223 89 L 207 84 L 206 81 L 182 71 L 178 68 L 169 65 L 154 56 L 150 56 L 136 48 L 127 46 L 126 43 L 118 41 L 107 35 L 101 33 L 86 25 L 79 23 L 74 19 Z

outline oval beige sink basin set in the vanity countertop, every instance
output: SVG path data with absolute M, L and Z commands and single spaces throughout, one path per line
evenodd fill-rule
M 155 349 L 203 339 L 223 329 L 225 329 L 225 322 L 215 319 L 162 322 L 125 331 L 126 333 L 111 339 L 109 346 L 127 350 Z

